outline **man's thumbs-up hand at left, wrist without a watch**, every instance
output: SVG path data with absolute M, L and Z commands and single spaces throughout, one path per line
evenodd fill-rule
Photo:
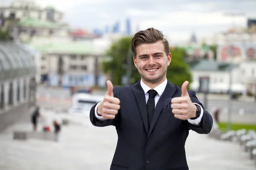
M 97 114 L 105 119 L 115 119 L 118 110 L 120 109 L 120 100 L 114 97 L 113 85 L 111 81 L 107 81 L 108 91 L 104 96 L 103 101 L 99 103 Z

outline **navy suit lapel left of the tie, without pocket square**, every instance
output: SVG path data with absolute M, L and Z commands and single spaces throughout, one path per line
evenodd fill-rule
M 148 113 L 147 113 L 146 99 L 145 99 L 145 93 L 140 85 L 140 81 L 137 82 L 135 85 L 131 85 L 130 87 L 136 97 L 137 103 L 140 108 L 140 113 L 143 119 L 143 123 L 145 126 L 145 130 L 148 134 Z

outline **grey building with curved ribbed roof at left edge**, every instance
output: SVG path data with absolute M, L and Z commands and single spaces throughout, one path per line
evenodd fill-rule
M 24 44 L 0 41 L 0 131 L 35 105 L 35 60 Z

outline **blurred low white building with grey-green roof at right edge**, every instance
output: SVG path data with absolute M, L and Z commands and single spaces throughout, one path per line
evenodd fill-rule
M 228 93 L 231 67 L 233 93 L 256 95 L 255 65 L 256 61 L 243 61 L 239 64 L 231 64 L 215 60 L 200 60 L 191 65 L 193 77 L 191 88 L 198 91 L 200 78 L 209 77 L 209 92 Z

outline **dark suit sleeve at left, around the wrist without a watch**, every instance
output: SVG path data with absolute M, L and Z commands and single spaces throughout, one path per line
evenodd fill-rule
M 113 94 L 114 94 L 114 97 L 117 97 L 116 96 L 116 88 L 113 88 Z M 105 127 L 105 126 L 116 126 L 116 120 L 118 119 L 118 115 L 119 113 L 116 114 L 116 117 L 115 119 L 107 119 L 107 120 L 99 120 L 98 118 L 96 118 L 95 116 L 95 107 L 98 103 L 96 103 L 95 105 L 93 105 L 93 107 L 91 108 L 90 110 L 90 122 L 94 125 L 94 126 L 97 126 L 97 127 Z

